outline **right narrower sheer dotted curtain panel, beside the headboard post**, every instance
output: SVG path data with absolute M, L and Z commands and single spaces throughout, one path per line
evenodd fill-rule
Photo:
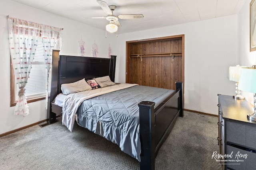
M 52 65 L 52 50 L 61 49 L 62 29 L 51 27 L 48 25 L 42 25 L 41 35 L 42 35 L 42 41 L 43 41 L 43 47 L 44 47 L 44 59 L 45 59 L 45 65 L 46 65 L 46 109 L 47 109 L 49 75 L 50 75 L 50 69 Z

